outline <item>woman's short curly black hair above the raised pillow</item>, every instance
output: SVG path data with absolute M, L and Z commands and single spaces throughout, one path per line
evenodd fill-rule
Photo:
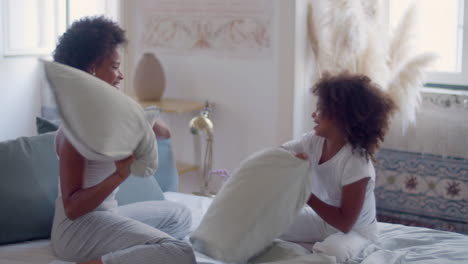
M 54 61 L 86 71 L 125 43 L 125 31 L 117 23 L 103 16 L 85 17 L 60 37 Z

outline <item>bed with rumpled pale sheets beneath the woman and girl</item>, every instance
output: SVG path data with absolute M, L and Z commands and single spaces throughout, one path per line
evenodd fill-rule
M 192 211 L 194 230 L 208 209 L 211 199 L 190 194 L 166 192 L 166 199 L 187 205 Z M 379 223 L 381 230 L 377 244 L 369 245 L 348 263 L 362 264 L 441 264 L 468 263 L 468 236 L 421 227 Z M 223 264 L 196 252 L 199 264 Z M 49 264 L 54 256 L 48 240 L 37 240 L 0 246 L 0 264 Z M 333 258 L 311 254 L 304 247 L 276 240 L 252 263 L 335 263 Z

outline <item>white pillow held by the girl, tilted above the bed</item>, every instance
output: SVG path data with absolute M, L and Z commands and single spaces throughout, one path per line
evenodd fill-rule
M 213 200 L 193 247 L 212 258 L 243 263 L 282 235 L 309 198 L 309 163 L 282 148 L 250 156 Z

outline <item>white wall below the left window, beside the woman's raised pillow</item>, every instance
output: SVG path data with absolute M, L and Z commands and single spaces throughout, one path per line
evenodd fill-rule
M 0 19 L 0 141 L 3 141 L 36 133 L 41 79 L 35 57 L 3 57 L 1 23 Z

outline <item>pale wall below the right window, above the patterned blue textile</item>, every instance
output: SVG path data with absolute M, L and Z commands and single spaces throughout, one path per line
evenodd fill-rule
M 384 147 L 468 159 L 468 91 L 425 88 L 416 123 L 405 131 L 396 116 Z

